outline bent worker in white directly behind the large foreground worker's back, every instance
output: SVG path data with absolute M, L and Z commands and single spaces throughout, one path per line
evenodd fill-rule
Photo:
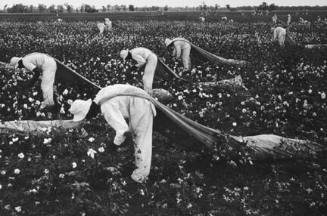
M 136 68 L 145 66 L 142 78 L 143 88 L 147 93 L 151 94 L 154 73 L 158 64 L 157 55 L 147 48 L 136 47 L 132 50 L 126 49 L 120 51 L 120 57 L 124 61 L 136 61 L 136 64 L 134 65 Z

